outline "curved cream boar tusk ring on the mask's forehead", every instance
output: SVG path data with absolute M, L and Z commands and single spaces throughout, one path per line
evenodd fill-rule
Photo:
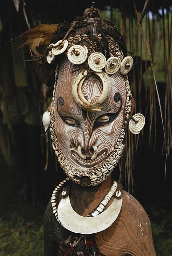
M 81 71 L 74 79 L 73 81 L 73 86 L 72 86 L 72 94 L 75 102 L 82 107 L 82 109 L 85 109 L 87 111 L 101 111 L 102 106 L 101 105 L 103 102 L 106 101 L 108 96 L 110 95 L 112 84 L 110 77 L 104 72 L 94 72 L 96 75 L 99 76 L 99 78 L 102 81 L 102 93 L 101 96 L 98 98 L 98 100 L 94 103 L 90 103 L 87 101 L 87 99 L 84 97 L 82 93 L 82 84 L 84 80 L 86 79 L 87 76 L 87 71 Z

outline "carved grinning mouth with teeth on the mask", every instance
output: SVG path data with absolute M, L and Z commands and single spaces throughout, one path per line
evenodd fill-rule
M 102 150 L 94 160 L 91 160 L 90 157 L 83 159 L 79 157 L 77 152 L 74 150 L 71 150 L 71 156 L 79 165 L 83 167 L 92 167 L 94 165 L 99 164 L 105 159 L 105 157 L 107 156 L 107 150 Z

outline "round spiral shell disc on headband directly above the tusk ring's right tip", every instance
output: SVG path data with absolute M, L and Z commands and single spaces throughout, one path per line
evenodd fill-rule
M 101 52 L 93 52 L 88 58 L 88 64 L 91 70 L 102 72 L 102 68 L 106 65 L 106 57 Z

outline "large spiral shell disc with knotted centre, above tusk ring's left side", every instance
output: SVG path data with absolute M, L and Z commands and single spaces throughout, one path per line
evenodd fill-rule
M 67 52 L 67 58 L 73 64 L 82 64 L 87 59 L 88 49 L 86 46 L 80 46 L 78 44 L 70 47 Z

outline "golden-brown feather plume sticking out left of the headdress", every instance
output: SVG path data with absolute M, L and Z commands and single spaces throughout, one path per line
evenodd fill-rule
M 32 56 L 42 56 L 52 39 L 53 32 L 56 31 L 57 24 L 42 24 L 27 30 L 17 38 L 21 42 L 20 47 L 26 46 Z

